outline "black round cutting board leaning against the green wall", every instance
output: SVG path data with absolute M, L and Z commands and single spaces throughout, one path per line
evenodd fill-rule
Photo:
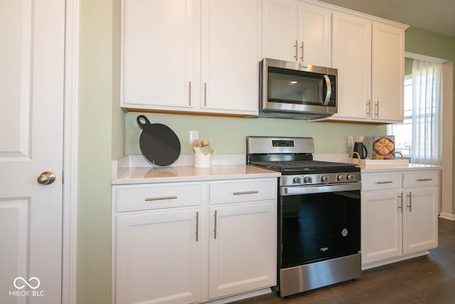
M 146 159 L 152 164 L 168 166 L 180 156 L 180 140 L 171 128 L 161 123 L 150 123 L 147 117 L 139 115 L 137 124 L 141 127 L 139 146 Z

